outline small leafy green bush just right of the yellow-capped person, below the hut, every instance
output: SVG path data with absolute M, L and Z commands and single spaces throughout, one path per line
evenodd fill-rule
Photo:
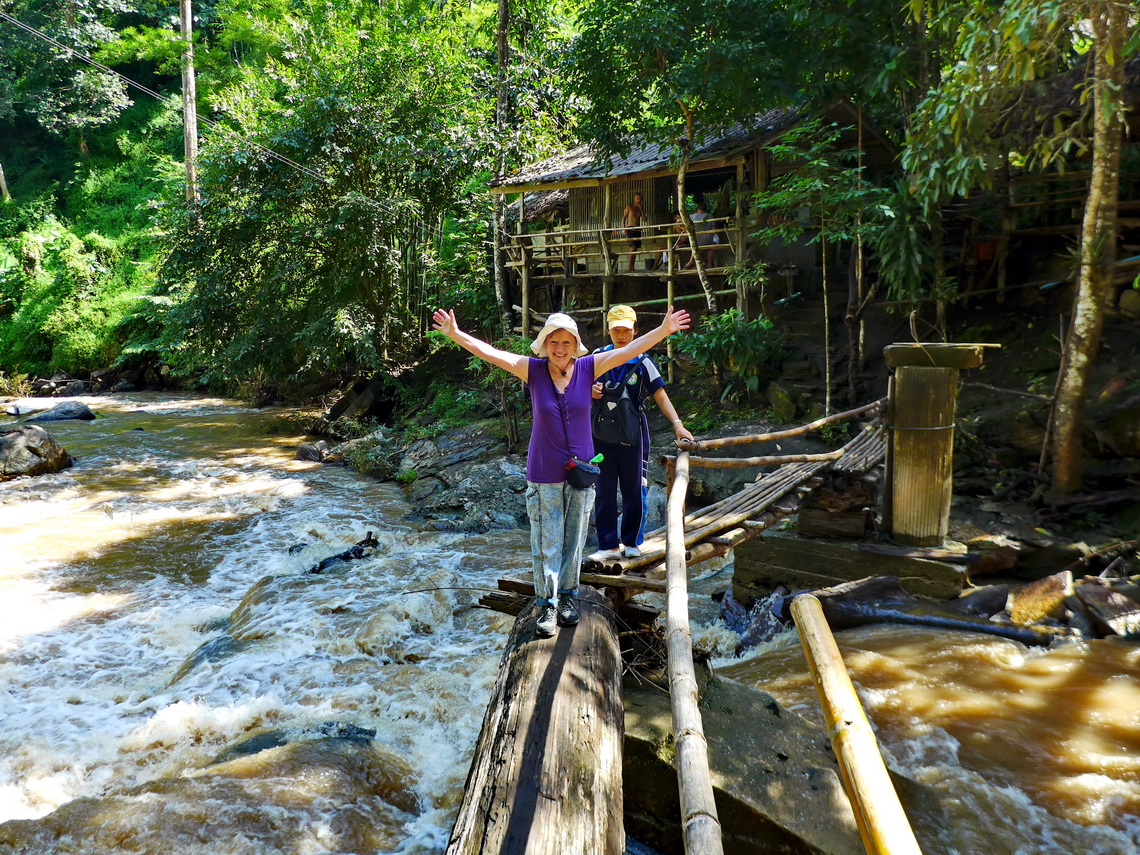
M 784 335 L 768 318 L 747 320 L 738 309 L 706 315 L 676 347 L 712 373 L 724 390 L 722 398 L 757 391 L 763 381 L 779 374 L 787 356 Z

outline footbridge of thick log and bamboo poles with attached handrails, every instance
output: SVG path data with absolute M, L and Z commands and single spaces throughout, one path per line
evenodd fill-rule
M 581 619 L 553 638 L 535 633 L 529 578 L 504 577 L 481 605 L 518 614 L 483 718 L 447 855 L 622 855 L 621 781 L 625 706 L 622 654 L 630 635 L 619 626 L 651 626 L 658 611 L 632 601 L 642 591 L 666 594 L 666 653 L 682 807 L 690 854 L 720 855 L 720 824 L 698 709 L 689 630 L 687 570 L 723 555 L 792 513 L 825 470 L 864 472 L 882 461 L 877 416 L 883 401 L 789 431 L 678 443 L 667 461 L 667 524 L 650 532 L 638 559 L 588 564 L 581 576 Z M 717 458 L 715 448 L 782 439 L 842 420 L 871 421 L 836 451 L 782 457 Z M 699 451 L 700 454 L 692 454 Z M 740 492 L 684 513 L 691 466 L 764 466 L 772 472 Z M 662 580 L 662 575 L 666 578 Z M 604 593 L 603 593 L 604 592 Z

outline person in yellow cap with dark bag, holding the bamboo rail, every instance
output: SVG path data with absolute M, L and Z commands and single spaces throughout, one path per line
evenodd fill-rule
M 594 351 L 598 355 L 616 352 L 634 340 L 637 335 L 637 314 L 629 306 L 614 306 L 606 312 L 605 325 L 613 343 Z M 661 372 L 648 355 L 638 353 L 624 360 L 598 380 L 593 390 L 594 447 L 602 453 L 603 458 L 594 505 L 598 548 L 589 560 L 603 562 L 640 556 L 641 545 L 645 539 L 649 420 L 642 406 L 644 399 L 653 396 L 657 406 L 673 425 L 677 439 L 691 440 L 693 434 L 685 429 L 677 415 L 676 407 L 665 391 Z M 625 420 L 621 418 L 622 408 L 627 410 Z M 598 418 L 600 413 L 612 414 L 612 418 Z M 629 424 L 619 425 L 622 421 Z

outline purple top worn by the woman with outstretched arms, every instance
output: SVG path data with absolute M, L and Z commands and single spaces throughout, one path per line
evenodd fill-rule
M 530 408 L 535 417 L 535 426 L 530 432 L 530 448 L 527 450 L 527 480 L 534 483 L 565 481 L 567 458 L 571 454 L 583 461 L 594 456 L 594 437 L 589 427 L 589 390 L 594 385 L 594 357 L 591 355 L 578 358 L 564 394 L 556 393 L 546 360 L 531 358 L 527 366 L 527 385 L 530 389 Z M 562 427 L 562 412 L 567 415 L 565 431 Z

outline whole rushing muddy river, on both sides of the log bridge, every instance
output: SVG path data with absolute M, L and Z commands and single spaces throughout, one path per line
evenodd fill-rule
M 399 488 L 294 459 L 280 410 L 84 400 L 48 425 L 76 466 L 0 484 L 0 853 L 441 853 L 510 626 L 473 604 L 526 532 L 420 531 Z M 840 644 L 951 819 L 931 854 L 1140 852 L 1134 645 Z M 793 636 L 717 668 L 819 720 Z

